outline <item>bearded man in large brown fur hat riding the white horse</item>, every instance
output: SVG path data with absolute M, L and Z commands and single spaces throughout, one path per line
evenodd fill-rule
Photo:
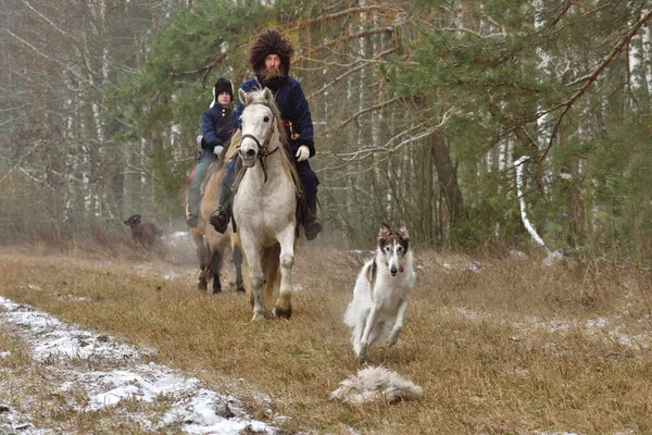
M 288 146 L 294 157 L 294 165 L 301 179 L 303 190 L 303 207 L 301 208 L 302 224 L 305 238 L 317 237 L 322 224 L 317 217 L 317 175 L 310 166 L 308 159 L 315 154 L 313 141 L 313 123 L 310 108 L 301 85 L 290 77 L 290 60 L 292 46 L 277 30 L 265 30 L 259 35 L 251 46 L 249 64 L 255 77 L 242 84 L 242 90 L 249 92 L 255 88 L 267 87 L 274 94 L 274 99 L 280 110 L 288 138 Z M 242 103 L 238 101 L 236 119 L 240 124 Z M 239 125 L 241 128 L 241 125 Z M 235 161 L 227 163 L 228 172 L 222 185 L 220 206 L 211 215 L 211 224 L 220 233 L 226 231 L 230 219 L 230 184 L 235 178 Z

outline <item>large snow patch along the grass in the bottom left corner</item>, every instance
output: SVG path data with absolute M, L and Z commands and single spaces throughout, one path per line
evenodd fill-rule
M 186 377 L 171 368 L 142 363 L 142 349 L 116 343 L 105 335 L 91 334 L 61 322 L 49 314 L 0 297 L 0 325 L 17 327 L 35 361 L 47 361 L 57 373 L 60 393 L 85 390 L 86 398 L 75 407 L 78 412 L 113 408 L 125 400 L 165 403 L 163 415 L 135 417 L 145 430 L 161 432 L 180 427 L 189 434 L 239 434 L 243 431 L 269 433 L 274 426 L 251 419 L 237 399 L 206 388 L 201 381 Z M 5 358 L 9 352 L 1 352 Z M 73 360 L 111 361 L 110 371 L 92 371 L 92 364 Z M 86 369 L 84 369 L 86 368 Z M 72 399 L 71 399 L 72 400 Z M 28 408 L 26 403 L 26 408 Z M 0 405 L 0 433 L 49 434 L 34 427 L 29 417 Z M 11 433 L 11 432 L 10 432 Z

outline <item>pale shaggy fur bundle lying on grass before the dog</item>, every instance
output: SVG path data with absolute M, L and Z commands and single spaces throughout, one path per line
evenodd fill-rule
M 422 388 L 418 385 L 384 366 L 362 369 L 339 385 L 330 397 L 351 405 L 362 405 L 378 399 L 396 403 L 403 400 L 418 400 L 422 397 Z

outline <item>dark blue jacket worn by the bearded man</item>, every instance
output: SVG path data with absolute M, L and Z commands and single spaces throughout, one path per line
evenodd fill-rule
M 246 92 L 250 92 L 260 88 L 261 84 L 255 78 L 251 78 L 242 84 L 242 90 Z M 315 145 L 313 141 L 312 116 L 310 114 L 308 100 L 303 95 L 303 89 L 301 89 L 299 82 L 288 76 L 280 88 L 276 91 L 274 99 L 276 100 L 276 104 L 278 105 L 278 110 L 280 111 L 283 120 L 291 121 L 292 132 L 300 135 L 299 139 L 297 140 L 290 139 L 290 135 L 288 135 L 290 148 L 296 150 L 301 145 L 305 145 L 310 149 L 310 157 L 313 157 L 315 154 Z M 240 121 L 242 109 L 244 109 L 244 107 L 242 105 L 242 102 L 238 100 L 236 116 L 238 120 L 238 127 L 240 129 L 242 129 L 242 122 Z

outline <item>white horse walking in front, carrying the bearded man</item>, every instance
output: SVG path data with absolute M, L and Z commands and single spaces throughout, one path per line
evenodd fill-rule
M 234 197 L 234 219 L 250 271 L 253 319 L 264 319 L 280 266 L 277 318 L 292 314 L 292 265 L 297 227 L 296 170 L 285 146 L 285 128 L 269 89 L 240 89 L 244 171 Z M 258 163 L 258 164 L 256 164 Z M 264 296 L 263 296 L 263 286 Z

